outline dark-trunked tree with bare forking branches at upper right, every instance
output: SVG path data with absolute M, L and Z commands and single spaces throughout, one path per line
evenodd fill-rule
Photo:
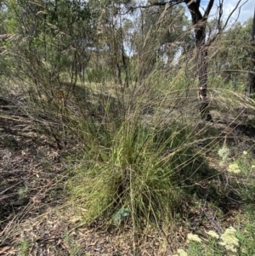
M 207 81 L 208 81 L 208 48 L 222 34 L 226 26 L 228 25 L 230 16 L 239 7 L 241 0 L 239 0 L 235 8 L 231 11 L 229 16 L 224 22 L 222 21 L 224 0 L 218 1 L 218 17 L 217 17 L 217 32 L 212 37 L 207 37 L 207 21 L 209 14 L 211 13 L 214 0 L 208 0 L 207 6 L 201 6 L 201 0 L 190 1 L 190 0 L 169 0 L 169 1 L 155 1 L 149 2 L 146 5 L 139 5 L 137 8 L 147 9 L 154 6 L 164 6 L 167 9 L 172 9 L 174 6 L 179 4 L 185 4 L 187 9 L 190 11 L 190 16 L 193 24 L 193 31 L 195 34 L 195 48 L 197 55 L 197 75 L 198 75 L 198 96 L 201 100 L 200 111 L 201 118 L 212 121 L 212 116 L 208 111 L 208 99 L 207 99 Z

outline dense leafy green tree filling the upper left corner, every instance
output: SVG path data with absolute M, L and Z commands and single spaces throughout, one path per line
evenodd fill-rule
M 8 54 L 16 75 L 29 77 L 54 94 L 51 83 L 59 85 L 62 72 L 74 87 L 88 64 L 99 10 L 88 1 L 8 0 L 6 12 Z

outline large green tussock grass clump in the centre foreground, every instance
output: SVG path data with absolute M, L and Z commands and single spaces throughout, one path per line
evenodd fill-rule
M 136 224 L 169 221 L 184 198 L 184 179 L 201 168 L 189 139 L 189 130 L 177 123 L 161 128 L 123 122 L 108 146 L 97 148 L 104 157 L 89 165 L 85 157 L 69 182 L 84 219 L 105 214 L 115 223 L 125 216 Z

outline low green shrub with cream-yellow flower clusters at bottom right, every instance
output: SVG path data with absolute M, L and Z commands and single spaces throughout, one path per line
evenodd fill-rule
M 221 154 L 222 153 L 222 154 Z M 228 161 L 229 150 L 226 147 L 219 152 L 224 162 Z M 238 224 L 224 230 L 223 234 L 217 234 L 213 230 L 209 230 L 203 236 L 188 234 L 187 243 L 184 249 L 179 249 L 175 255 L 189 256 L 222 256 L 222 255 L 255 255 L 254 246 L 254 197 L 255 182 L 252 179 L 254 175 L 254 160 L 252 155 L 243 151 L 241 156 L 229 163 L 228 172 L 232 175 L 238 175 L 239 181 L 236 190 L 241 193 L 241 200 L 246 202 L 246 208 L 236 218 Z

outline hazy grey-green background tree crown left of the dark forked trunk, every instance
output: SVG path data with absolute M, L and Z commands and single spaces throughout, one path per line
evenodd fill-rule
M 178 22 L 177 22 L 178 21 Z M 148 5 L 140 10 L 134 21 L 132 47 L 138 58 L 138 77 L 144 79 L 155 67 L 166 69 L 175 54 L 188 41 L 184 26 L 187 17 L 183 6 L 172 9 L 161 5 Z

